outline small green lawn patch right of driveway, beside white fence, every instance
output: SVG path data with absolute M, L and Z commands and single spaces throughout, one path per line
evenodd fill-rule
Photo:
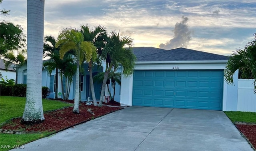
M 256 112 L 224 111 L 224 113 L 233 123 L 235 121 L 256 123 Z

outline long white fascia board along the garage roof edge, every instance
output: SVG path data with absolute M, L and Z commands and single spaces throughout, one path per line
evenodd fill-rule
M 136 64 L 163 64 L 163 63 L 227 63 L 228 60 L 199 60 L 199 61 L 138 61 Z

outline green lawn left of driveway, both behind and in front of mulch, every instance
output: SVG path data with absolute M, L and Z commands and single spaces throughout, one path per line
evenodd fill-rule
M 11 118 L 20 117 L 23 115 L 25 108 L 25 97 L 14 97 L 14 96 L 0 96 L 0 123 L 5 122 Z M 72 104 L 67 104 L 64 102 L 45 100 L 43 99 L 43 110 L 50 111 L 56 110 L 65 106 L 72 106 Z M 34 134 L 0 134 L 0 151 L 7 151 L 20 145 L 20 148 L 24 147 L 22 145 L 40 139 L 50 135 L 50 133 L 34 133 Z M 10 146 L 8 146 L 10 145 Z M 25 145 L 26 147 L 26 145 Z M 26 149 L 26 148 L 25 148 Z

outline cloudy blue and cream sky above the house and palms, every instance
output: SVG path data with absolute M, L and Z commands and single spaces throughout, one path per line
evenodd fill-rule
M 26 0 L 3 0 L 0 16 L 27 34 Z M 184 47 L 231 55 L 256 33 L 255 0 L 46 0 L 44 35 L 58 37 L 65 27 L 103 25 L 134 39 L 134 47 Z

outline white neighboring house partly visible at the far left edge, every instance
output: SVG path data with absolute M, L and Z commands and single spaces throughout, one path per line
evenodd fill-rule
M 8 79 L 14 79 L 14 80 L 16 79 L 16 71 L 14 70 L 14 67 L 15 67 L 15 64 L 12 63 L 6 71 L 4 66 L 4 59 L 0 59 L 0 72 L 4 80 L 6 80 L 6 77 Z M 2 79 L 0 78 L 0 80 Z

